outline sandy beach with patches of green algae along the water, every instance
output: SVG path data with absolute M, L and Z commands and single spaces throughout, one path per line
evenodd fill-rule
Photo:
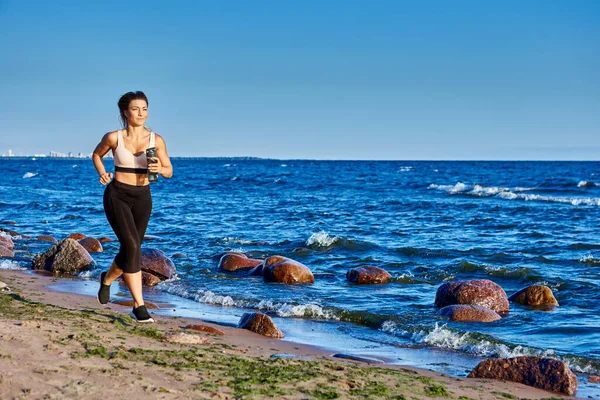
M 324 348 L 230 324 L 161 313 L 155 324 L 136 325 L 126 307 L 52 290 L 61 280 L 0 270 L 0 281 L 12 289 L 0 292 L 1 397 L 568 398 L 512 382 L 340 360 Z M 200 345 L 165 339 L 187 324 L 224 335 L 199 333 L 210 342 Z

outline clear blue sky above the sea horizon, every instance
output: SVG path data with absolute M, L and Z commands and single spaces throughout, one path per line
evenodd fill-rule
M 0 153 L 597 160 L 600 1 L 0 0 Z

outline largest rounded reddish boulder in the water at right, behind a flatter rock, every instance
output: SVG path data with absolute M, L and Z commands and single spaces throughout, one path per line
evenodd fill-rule
M 504 289 L 487 279 L 447 282 L 435 294 L 435 306 L 473 304 L 487 307 L 499 314 L 508 313 L 508 298 Z

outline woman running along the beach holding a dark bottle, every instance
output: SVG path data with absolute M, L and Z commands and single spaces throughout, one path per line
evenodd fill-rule
M 125 93 L 118 106 L 125 129 L 104 135 L 92 155 L 100 183 L 108 184 L 104 190 L 104 212 L 121 246 L 109 270 L 100 274 L 98 302 L 109 302 L 110 284 L 123 275 L 133 297 L 131 316 L 137 322 L 154 322 L 144 305 L 140 267 L 142 241 L 152 211 L 148 173 L 170 178 L 173 167 L 164 139 L 145 126 L 148 118 L 146 95 L 143 92 Z M 148 160 L 146 149 L 152 147 L 156 148 L 156 158 Z M 109 150 L 114 157 L 114 179 L 102 162 Z

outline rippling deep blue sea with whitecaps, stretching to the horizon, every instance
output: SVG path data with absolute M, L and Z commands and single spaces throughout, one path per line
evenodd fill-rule
M 579 397 L 600 398 L 600 164 L 528 161 L 313 161 L 173 158 L 172 179 L 152 183 L 143 247 L 162 250 L 174 278 L 146 298 L 160 315 L 235 324 L 272 316 L 284 340 L 466 376 L 490 357 L 563 360 Z M 112 170 L 112 161 L 105 161 Z M 104 186 L 89 159 L 0 158 L 0 226 L 18 231 L 3 269 L 30 269 L 35 254 L 81 232 L 115 238 Z M 14 221 L 16 225 L 3 222 Z M 30 236 L 27 238 L 26 236 Z M 55 289 L 95 295 L 118 242 Z M 217 270 L 215 256 L 282 255 L 308 266 L 313 284 L 265 283 Z M 373 265 L 383 285 L 346 280 Z M 493 323 L 452 322 L 434 307 L 445 282 L 489 279 L 507 295 L 549 286 L 560 306 L 511 303 Z M 128 296 L 113 285 L 114 296 Z M 149 300 L 151 301 L 151 300 Z

